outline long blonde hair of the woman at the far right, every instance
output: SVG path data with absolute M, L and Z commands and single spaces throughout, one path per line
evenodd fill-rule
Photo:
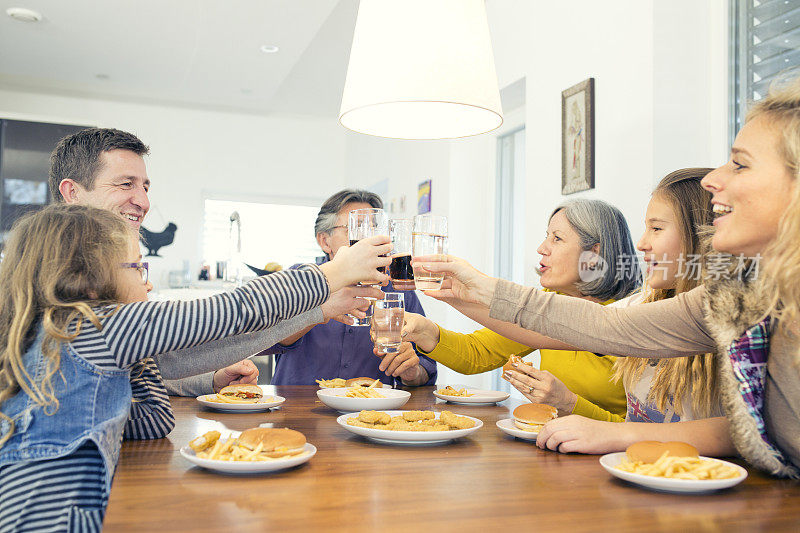
M 756 103 L 747 121 L 765 116 L 781 132 L 778 147 L 794 180 L 794 194 L 778 224 L 775 239 L 764 251 L 764 294 L 770 295 L 766 315 L 778 319 L 784 331 L 798 332 L 800 319 L 800 76 L 774 83 L 769 96 Z M 765 191 L 765 194 L 774 194 Z

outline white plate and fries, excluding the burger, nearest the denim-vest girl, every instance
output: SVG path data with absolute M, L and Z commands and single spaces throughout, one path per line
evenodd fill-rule
M 191 447 L 181 448 L 181 455 L 189 462 L 226 474 L 258 474 L 291 468 L 307 462 L 317 453 L 313 444 L 306 443 L 303 451 L 288 457 L 272 458 L 255 450 L 248 450 L 236 444 L 238 432 L 227 439 L 219 439 L 219 444 L 204 452 L 195 452 Z

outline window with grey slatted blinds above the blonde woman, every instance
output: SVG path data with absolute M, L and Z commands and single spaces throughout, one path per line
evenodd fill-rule
M 800 2 L 731 0 L 731 141 L 748 104 L 782 72 L 800 66 Z

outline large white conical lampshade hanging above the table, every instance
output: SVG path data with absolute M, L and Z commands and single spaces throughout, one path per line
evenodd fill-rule
M 398 139 L 503 123 L 484 0 L 361 0 L 339 122 Z

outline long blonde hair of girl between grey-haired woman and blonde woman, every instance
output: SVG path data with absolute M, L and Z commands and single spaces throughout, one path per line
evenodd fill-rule
M 681 251 L 684 258 L 703 256 L 705 242 L 700 235 L 702 228 L 711 224 L 711 193 L 703 189 L 700 180 L 711 172 L 710 168 L 685 168 L 664 177 L 653 191 L 653 198 L 667 202 L 672 208 L 681 234 Z M 644 302 L 655 302 L 689 291 L 702 281 L 700 272 L 691 276 L 686 272 L 678 278 L 675 289 L 648 289 L 645 287 Z M 678 415 L 686 409 L 682 402 L 692 398 L 692 411 L 697 418 L 711 416 L 719 405 L 716 387 L 716 362 L 714 354 L 675 357 L 651 361 L 640 357 L 621 357 L 614 363 L 613 379 L 630 390 L 642 377 L 648 365 L 655 363 L 655 376 L 647 400 L 665 411 L 671 403 Z

